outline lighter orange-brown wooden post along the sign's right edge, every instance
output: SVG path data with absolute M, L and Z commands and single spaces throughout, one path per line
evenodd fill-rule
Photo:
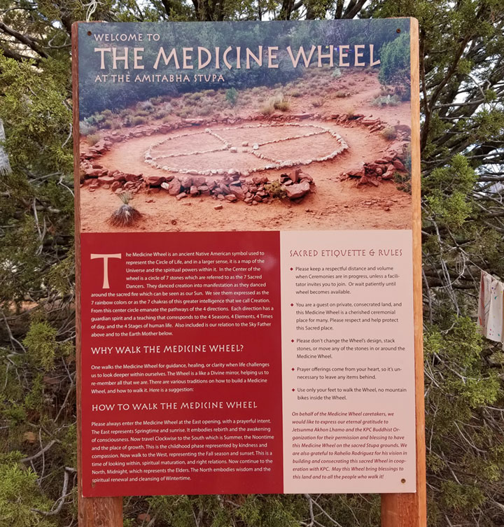
M 382 494 L 381 527 L 426 527 L 425 405 L 423 402 L 423 316 L 420 207 L 419 26 L 411 19 L 411 111 L 413 201 L 413 306 L 416 413 L 416 493 Z

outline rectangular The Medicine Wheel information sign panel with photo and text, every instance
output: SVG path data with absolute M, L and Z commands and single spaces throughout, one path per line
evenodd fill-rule
M 415 491 L 410 24 L 78 24 L 83 496 Z

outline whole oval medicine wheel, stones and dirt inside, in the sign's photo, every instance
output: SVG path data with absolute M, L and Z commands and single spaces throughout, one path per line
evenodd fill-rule
M 242 138 L 246 135 L 246 140 L 240 140 L 239 137 L 236 137 L 240 135 Z M 274 137 L 275 135 L 276 137 Z M 300 143 L 302 139 L 312 136 L 321 136 L 321 139 L 325 140 L 321 148 L 318 148 L 318 157 L 308 157 L 307 154 L 312 149 L 303 148 L 302 142 Z M 279 155 L 275 154 L 274 149 L 272 152 L 268 151 L 267 146 L 276 143 L 283 143 L 284 146 L 288 146 L 286 141 L 293 142 L 292 149 L 295 152 L 295 158 L 281 159 Z M 186 148 L 186 145 L 193 142 L 200 145 L 201 149 L 190 150 Z M 204 146 L 204 143 L 208 143 L 207 147 Z M 315 161 L 331 160 L 346 148 L 348 146 L 339 134 L 321 125 L 297 122 L 278 125 L 253 124 L 218 129 L 205 128 L 200 132 L 168 136 L 157 143 L 153 143 L 146 150 L 144 161 L 153 168 L 180 174 L 198 176 L 239 174 L 240 176 L 248 176 L 252 172 L 283 169 L 295 165 L 306 165 Z M 272 148 L 269 147 L 269 150 Z M 229 158 L 230 166 L 223 167 L 222 163 L 226 162 L 223 156 L 228 155 L 228 153 L 236 156 L 235 165 L 240 164 L 239 161 L 241 160 L 241 164 L 245 168 L 232 168 L 233 160 L 229 161 Z M 219 163 L 221 166 L 215 166 Z M 202 164 L 207 166 L 202 168 Z

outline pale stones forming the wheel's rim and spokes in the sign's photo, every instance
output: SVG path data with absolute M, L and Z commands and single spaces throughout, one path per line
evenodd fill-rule
M 237 129 L 251 129 L 251 128 L 262 128 L 262 127 L 283 127 L 286 126 L 284 124 L 281 125 L 272 125 L 272 124 L 257 124 L 257 125 L 241 125 L 239 127 L 225 127 L 222 129 L 219 129 L 219 131 L 225 131 L 225 130 L 237 130 Z M 321 125 L 307 125 L 307 124 L 300 124 L 297 122 L 288 123 L 289 127 L 299 127 L 299 128 L 311 128 L 313 129 L 311 132 L 307 132 L 305 134 L 297 134 L 293 136 L 284 137 L 282 139 L 273 139 L 272 141 L 264 141 L 262 143 L 253 143 L 251 154 L 255 155 L 255 157 L 258 157 L 261 160 L 265 160 L 269 162 L 269 164 L 266 164 L 264 167 L 258 167 L 253 168 L 247 171 L 247 174 L 250 172 L 259 172 L 263 170 L 268 169 L 279 169 L 279 168 L 288 168 L 293 167 L 295 165 L 299 164 L 310 164 L 312 162 L 316 161 L 328 161 L 342 153 L 344 150 L 348 148 L 348 145 L 336 132 L 332 132 L 331 129 L 327 127 L 323 127 Z M 305 159 L 297 159 L 297 160 L 278 160 L 274 159 L 273 157 L 269 157 L 265 154 L 260 153 L 260 147 L 272 144 L 272 143 L 280 143 L 282 141 L 291 141 L 293 139 L 300 139 L 302 137 L 311 137 L 321 134 L 330 134 L 330 136 L 334 137 L 337 142 L 337 148 L 333 150 L 330 154 L 324 155 L 323 157 L 314 157 L 314 158 L 305 158 Z M 221 143 L 223 143 L 223 146 L 221 148 L 212 148 L 211 150 L 194 150 L 193 152 L 184 152 L 184 153 L 172 153 L 172 154 L 165 154 L 165 155 L 157 155 L 153 156 L 152 150 L 158 146 L 161 146 L 165 143 L 169 143 L 169 141 L 172 141 L 173 139 L 180 139 L 181 137 L 188 137 L 188 136 L 196 136 L 201 134 L 209 134 L 211 136 L 216 137 Z M 210 176 L 214 174 L 240 174 L 240 171 L 237 169 L 230 169 L 230 170 L 224 170 L 224 169 L 214 169 L 214 170 L 204 170 L 204 171 L 197 171 L 194 169 L 178 169 L 175 167 L 169 167 L 167 162 L 160 162 L 161 160 L 169 160 L 172 157 L 185 157 L 188 155 L 202 155 L 202 154 L 208 154 L 208 153 L 215 153 L 215 152 L 221 152 L 223 150 L 229 150 L 232 148 L 232 144 L 229 143 L 229 141 L 226 141 L 222 136 L 220 136 L 217 132 L 210 128 L 205 128 L 202 132 L 188 132 L 186 134 L 178 134 L 176 136 L 169 136 L 166 139 L 162 139 L 162 141 L 158 141 L 157 143 L 153 143 L 148 150 L 144 153 L 144 161 L 148 164 L 150 164 L 153 168 L 161 169 L 164 171 L 169 172 L 179 172 L 180 174 L 197 174 L 201 176 Z M 246 175 L 246 174 L 242 174 Z

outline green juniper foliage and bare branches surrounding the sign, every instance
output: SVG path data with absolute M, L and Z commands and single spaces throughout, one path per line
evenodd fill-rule
M 86 13 L 419 19 L 429 525 L 502 526 L 503 352 L 475 325 L 480 270 L 504 277 L 501 0 L 0 0 L 0 525 L 76 521 L 70 33 Z M 127 498 L 127 522 L 140 513 L 157 527 L 370 527 L 379 500 Z

